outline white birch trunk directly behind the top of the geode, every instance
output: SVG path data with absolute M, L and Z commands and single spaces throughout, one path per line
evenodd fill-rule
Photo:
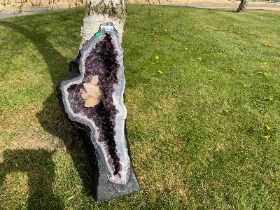
M 105 22 L 113 22 L 121 42 L 126 18 L 126 4 L 126 0 L 87 0 L 80 49 L 98 31 L 99 25 Z

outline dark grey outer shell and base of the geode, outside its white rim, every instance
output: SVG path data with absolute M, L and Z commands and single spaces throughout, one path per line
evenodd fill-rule
M 63 113 L 66 115 L 66 118 L 70 121 L 70 123 L 75 127 L 83 137 L 83 141 L 86 141 L 86 144 L 91 144 L 92 141 L 90 139 L 91 130 L 85 124 L 78 123 L 76 121 L 71 120 L 70 116 L 66 113 L 63 99 L 62 99 L 62 89 L 61 84 L 66 80 L 70 80 L 71 78 L 76 78 L 80 76 L 79 70 L 79 61 L 80 61 L 80 53 L 76 59 L 69 63 L 69 78 L 66 78 L 59 83 L 57 83 L 57 97 L 59 99 L 59 105 L 62 108 Z M 90 159 L 93 160 L 91 162 L 92 167 L 92 181 L 94 183 L 94 189 L 92 189 L 92 195 L 97 202 L 102 202 L 106 200 L 111 200 L 116 197 L 121 197 L 124 195 L 128 195 L 131 193 L 136 193 L 140 190 L 139 181 L 134 171 L 134 167 L 132 165 L 132 158 L 130 154 L 130 146 L 128 144 L 127 139 L 127 130 L 125 127 L 125 140 L 127 144 L 127 151 L 130 158 L 130 177 L 127 181 L 126 185 L 120 185 L 109 181 L 108 176 L 106 174 L 104 165 L 102 163 L 102 158 L 98 151 L 94 149 L 92 145 L 90 147 L 90 151 L 87 151 L 88 155 L 90 155 Z

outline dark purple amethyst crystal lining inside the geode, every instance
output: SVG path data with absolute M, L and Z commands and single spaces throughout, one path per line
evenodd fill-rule
M 111 35 L 105 34 L 103 41 L 97 43 L 96 48 L 85 58 L 85 74 L 81 84 L 71 85 L 68 88 L 69 102 L 74 113 L 87 116 L 93 120 L 99 131 L 99 141 L 102 141 L 108 147 L 108 154 L 111 156 L 110 165 L 113 168 L 113 174 L 120 171 L 120 159 L 116 154 L 116 142 L 114 141 L 113 127 L 116 125 L 116 113 L 118 110 L 113 104 L 112 92 L 113 84 L 118 83 L 116 61 L 116 52 L 112 42 Z M 83 83 L 90 83 L 92 76 L 98 75 L 98 85 L 104 93 L 106 106 L 102 102 L 94 107 L 85 107 L 85 102 L 81 99 L 80 89 L 83 89 Z

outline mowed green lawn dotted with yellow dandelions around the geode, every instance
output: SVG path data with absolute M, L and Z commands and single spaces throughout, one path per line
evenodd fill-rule
M 149 10 L 123 36 L 142 190 L 99 204 L 55 92 L 84 8 L 0 20 L 0 209 L 280 209 L 280 14 Z

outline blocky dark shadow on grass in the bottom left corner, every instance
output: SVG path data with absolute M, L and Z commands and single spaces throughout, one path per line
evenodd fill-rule
M 25 172 L 28 176 L 29 198 L 27 209 L 64 209 L 64 202 L 52 192 L 55 179 L 54 152 L 43 149 L 6 150 L 0 163 L 0 186 L 13 172 Z

